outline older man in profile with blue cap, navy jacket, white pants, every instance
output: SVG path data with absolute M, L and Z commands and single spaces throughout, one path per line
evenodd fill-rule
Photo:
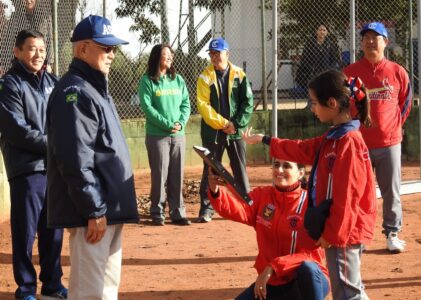
M 47 107 L 48 224 L 68 228 L 68 299 L 117 299 L 125 223 L 138 223 L 129 150 L 107 74 L 116 46 L 108 19 L 90 15 L 70 41 L 73 60 Z

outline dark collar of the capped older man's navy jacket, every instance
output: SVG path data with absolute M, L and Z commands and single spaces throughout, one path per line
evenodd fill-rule
M 104 97 L 108 94 L 108 82 L 105 75 L 79 58 L 73 58 L 69 70 L 80 73 L 80 76 L 88 81 Z

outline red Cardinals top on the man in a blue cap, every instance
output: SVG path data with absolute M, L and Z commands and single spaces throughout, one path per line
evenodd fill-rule
M 408 74 L 400 65 L 383 59 L 372 65 L 362 58 L 344 69 L 360 77 L 368 89 L 372 126 L 361 126 L 369 149 L 393 146 L 402 141 L 402 126 L 411 110 L 412 91 Z

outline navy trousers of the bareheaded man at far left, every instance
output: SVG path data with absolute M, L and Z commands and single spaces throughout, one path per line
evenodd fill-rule
M 9 180 L 12 229 L 13 274 L 17 298 L 35 295 L 37 274 L 32 263 L 32 246 L 38 236 L 42 294 L 62 288 L 60 255 L 63 229 L 47 228 L 47 176 L 37 172 Z

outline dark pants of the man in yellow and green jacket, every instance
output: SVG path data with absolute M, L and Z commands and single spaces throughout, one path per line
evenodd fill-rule
M 203 147 L 208 148 L 216 159 L 222 161 L 222 155 L 225 149 L 227 150 L 230 160 L 230 166 L 234 178 L 237 180 L 240 187 L 246 192 L 250 191 L 250 184 L 246 170 L 246 143 L 242 139 L 227 140 L 226 134 L 218 132 L 218 138 L 215 141 L 204 141 L 202 139 Z M 200 211 L 199 216 L 205 214 L 213 215 L 213 207 L 210 204 L 208 195 L 208 166 L 204 164 L 202 182 L 200 183 Z

